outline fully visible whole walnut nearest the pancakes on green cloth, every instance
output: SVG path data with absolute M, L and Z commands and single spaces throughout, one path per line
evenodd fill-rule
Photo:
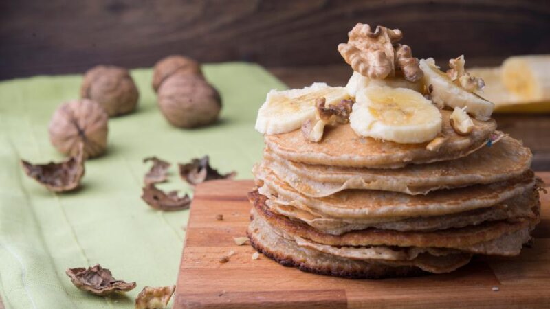
M 181 128 L 211 124 L 221 110 L 218 91 L 200 76 L 188 74 L 166 79 L 159 88 L 158 104 L 168 122 Z

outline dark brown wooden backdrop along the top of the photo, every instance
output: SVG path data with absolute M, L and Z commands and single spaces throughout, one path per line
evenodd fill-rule
M 355 23 L 404 31 L 415 56 L 494 65 L 550 53 L 546 0 L 0 1 L 0 79 L 151 67 L 169 54 L 264 66 L 341 63 Z

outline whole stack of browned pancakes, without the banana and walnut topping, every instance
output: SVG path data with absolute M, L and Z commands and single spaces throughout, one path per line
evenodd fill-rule
M 518 255 L 539 222 L 531 152 L 473 119 L 441 111 L 445 142 L 397 144 L 349 124 L 319 143 L 300 130 L 265 135 L 250 192 L 252 245 L 285 266 L 353 278 L 447 273 L 472 255 Z

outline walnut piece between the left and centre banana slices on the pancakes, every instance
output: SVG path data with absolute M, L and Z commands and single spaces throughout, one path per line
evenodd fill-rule
M 302 133 L 309 141 L 318 143 L 325 132 L 325 126 L 336 126 L 338 124 L 349 123 L 349 114 L 353 100 L 341 100 L 338 104 L 326 105 L 325 97 L 318 98 L 315 101 L 316 117 L 308 119 L 302 124 Z

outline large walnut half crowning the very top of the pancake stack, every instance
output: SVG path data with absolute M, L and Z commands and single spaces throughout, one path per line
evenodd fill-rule
M 338 45 L 338 52 L 354 71 L 371 79 L 395 76 L 399 69 L 404 78 L 416 82 L 423 76 L 419 61 L 412 57 L 410 47 L 397 42 L 403 38 L 399 29 L 358 23 L 348 33 L 348 43 Z

